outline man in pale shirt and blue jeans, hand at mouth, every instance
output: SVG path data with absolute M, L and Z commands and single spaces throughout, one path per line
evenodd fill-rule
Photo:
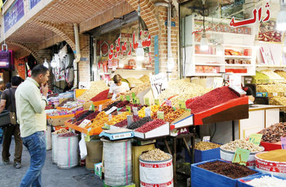
M 16 90 L 16 110 L 20 123 L 23 144 L 31 156 L 30 167 L 20 186 L 42 186 L 41 172 L 46 159 L 44 130 L 47 119 L 44 108 L 47 104 L 49 69 L 38 65 Z M 41 94 L 42 91 L 42 94 Z

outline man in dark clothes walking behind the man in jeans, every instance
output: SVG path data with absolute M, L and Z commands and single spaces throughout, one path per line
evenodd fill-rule
M 18 76 L 12 76 L 11 83 L 12 87 L 10 89 L 5 89 L 1 95 L 0 113 L 2 113 L 4 109 L 10 112 L 16 112 L 15 91 L 18 85 L 22 83 L 21 78 Z M 16 169 L 19 169 L 22 167 L 21 157 L 22 157 L 23 145 L 20 136 L 20 127 L 18 124 L 16 125 L 8 124 L 8 126 L 3 128 L 4 139 L 2 145 L 2 160 L 3 164 L 9 164 L 10 162 L 9 149 L 12 141 L 12 135 L 14 135 L 14 141 L 15 141 L 14 167 Z

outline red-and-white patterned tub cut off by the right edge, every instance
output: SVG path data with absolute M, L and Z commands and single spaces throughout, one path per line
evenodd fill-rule
M 265 152 L 263 152 L 265 153 Z M 278 177 L 286 178 L 286 162 L 275 162 L 263 160 L 257 156 L 262 153 L 255 154 L 255 169 L 262 173 L 273 174 Z

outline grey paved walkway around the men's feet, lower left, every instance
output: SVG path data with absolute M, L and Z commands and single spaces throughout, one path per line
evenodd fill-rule
M 23 147 L 22 168 L 13 167 L 14 160 L 14 139 L 10 147 L 10 164 L 4 165 L 2 162 L 2 144 L 0 145 L 0 186 L 16 187 L 19 186 L 21 179 L 29 168 L 29 152 Z M 103 186 L 101 179 L 94 175 L 94 171 L 89 171 L 85 167 L 76 167 L 74 169 L 57 169 L 57 165 L 51 163 L 51 150 L 47 151 L 46 162 L 42 169 L 43 187 L 73 187 L 73 186 Z

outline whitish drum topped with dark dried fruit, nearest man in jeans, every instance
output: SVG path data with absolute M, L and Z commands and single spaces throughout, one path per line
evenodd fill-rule
M 57 167 L 71 169 L 79 164 L 78 136 L 57 136 Z

